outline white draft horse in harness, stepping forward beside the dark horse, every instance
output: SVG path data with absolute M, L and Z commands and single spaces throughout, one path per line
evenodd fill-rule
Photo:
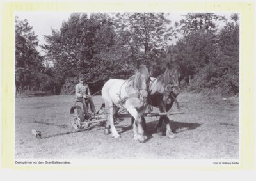
M 138 66 L 136 73 L 129 79 L 110 79 L 104 84 L 102 98 L 105 102 L 105 110 L 108 113 L 105 134 L 109 133 L 110 127 L 112 136 L 114 138 L 120 137 L 113 122 L 113 115 L 120 108 L 124 108 L 135 119 L 134 139 L 138 139 L 141 143 L 147 139 L 142 127 L 143 119 L 141 115 L 147 109 L 149 82 L 150 73 L 148 67 L 141 65 L 140 67 Z

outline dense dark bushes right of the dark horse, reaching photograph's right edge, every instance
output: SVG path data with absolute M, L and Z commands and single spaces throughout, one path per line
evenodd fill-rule
M 189 90 L 239 93 L 238 16 L 232 15 L 232 20 L 235 22 L 228 22 L 218 33 L 191 31 L 173 47 L 185 77 L 195 77 Z

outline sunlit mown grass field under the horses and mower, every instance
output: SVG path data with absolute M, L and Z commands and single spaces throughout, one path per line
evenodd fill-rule
M 97 96 L 93 100 L 99 109 L 102 98 Z M 103 124 L 74 132 L 69 122 L 74 96 L 16 98 L 15 157 L 238 159 L 239 98 L 223 100 L 182 93 L 178 100 L 185 114 L 172 117 L 172 130 L 177 138 L 154 133 L 157 118 L 146 118 L 152 137 L 139 143 L 132 139 L 128 118 L 116 125 L 120 139 L 104 135 Z M 171 111 L 177 111 L 176 106 Z M 33 136 L 32 129 L 40 130 L 42 139 Z

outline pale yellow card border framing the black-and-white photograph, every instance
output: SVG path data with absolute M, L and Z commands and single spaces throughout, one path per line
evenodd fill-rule
M 15 166 L 15 12 L 237 12 L 240 13 L 240 164 L 239 166 L 177 166 L 161 169 L 253 169 L 254 123 L 254 4 L 253 3 L 3 3 L 2 4 L 2 125 L 1 164 L 13 169 L 85 169 L 74 166 Z M 105 167 L 108 168 L 108 167 Z M 118 167 L 125 168 L 125 167 Z M 129 167 L 128 167 L 129 168 Z M 135 167 L 134 167 L 135 168 Z M 143 168 L 143 167 L 141 167 Z M 154 167 L 144 167 L 154 169 Z M 97 168 L 95 168 L 97 169 Z M 98 168 L 100 169 L 100 168 Z M 111 167 L 109 167 L 111 169 Z M 129 168 L 133 169 L 133 168 Z

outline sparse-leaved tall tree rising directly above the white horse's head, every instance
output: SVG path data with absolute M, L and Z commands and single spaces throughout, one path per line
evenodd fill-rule
M 128 47 L 134 61 L 153 60 L 173 36 L 166 13 L 124 13 L 116 15 L 120 44 Z

